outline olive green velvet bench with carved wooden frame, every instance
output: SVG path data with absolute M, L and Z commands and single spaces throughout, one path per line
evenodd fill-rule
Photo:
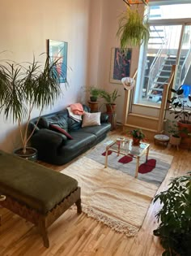
M 47 248 L 47 228 L 73 204 L 82 212 L 77 180 L 1 150 L 0 194 L 0 205 L 35 224 Z

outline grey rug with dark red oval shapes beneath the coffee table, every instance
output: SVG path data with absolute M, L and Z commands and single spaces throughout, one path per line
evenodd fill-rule
M 105 145 L 100 144 L 90 150 L 86 154 L 87 158 L 91 158 L 98 163 L 105 163 Z M 172 163 L 172 155 L 161 154 L 150 150 L 148 160 L 146 162 L 146 156 L 142 155 L 140 158 L 140 165 L 138 168 L 138 179 L 150 182 L 159 186 L 165 176 L 168 173 L 168 169 Z M 108 152 L 108 167 L 116 169 L 117 171 L 122 171 L 130 176 L 135 175 L 137 159 L 132 158 L 130 155 L 117 156 L 117 153 L 109 151 Z

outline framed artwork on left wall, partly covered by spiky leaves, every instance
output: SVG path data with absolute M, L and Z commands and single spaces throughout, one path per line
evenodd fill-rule
M 65 83 L 67 79 L 67 52 L 68 43 L 66 41 L 48 40 L 50 61 L 59 59 L 57 62 L 57 72 L 60 75 L 60 83 Z

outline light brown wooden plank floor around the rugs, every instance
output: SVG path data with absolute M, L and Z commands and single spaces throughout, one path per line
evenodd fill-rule
M 120 133 L 120 131 L 117 131 Z M 112 137 L 116 132 L 111 132 Z M 159 191 L 167 188 L 168 181 L 173 176 L 180 176 L 191 170 L 191 151 L 166 148 L 163 145 L 153 145 L 151 150 L 174 156 L 168 176 L 160 186 Z M 61 171 L 65 166 L 52 167 Z M 1 256 L 156 256 L 161 255 L 163 248 L 157 237 L 152 235 L 157 227 L 155 212 L 159 204 L 151 204 L 138 236 L 131 238 L 112 231 L 95 219 L 86 215 L 77 215 L 74 210 L 67 210 L 60 219 L 49 228 L 49 249 L 43 247 L 41 237 L 32 223 L 26 222 L 11 211 L 0 208 L 2 226 L 0 227 Z

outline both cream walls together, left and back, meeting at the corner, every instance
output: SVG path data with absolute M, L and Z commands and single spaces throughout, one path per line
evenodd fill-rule
M 123 118 L 124 89 L 109 82 L 111 50 L 119 47 L 116 33 L 118 17 L 125 11 L 122 0 L 6 0 L 0 8 L 0 59 L 32 61 L 46 52 L 47 39 L 68 42 L 70 87 L 50 111 L 59 111 L 74 102 L 87 102 L 85 88 L 96 85 L 118 89 L 117 122 Z M 133 49 L 130 76 L 138 67 L 138 49 Z M 102 110 L 104 111 L 104 109 Z M 32 117 L 39 115 L 38 111 Z M 0 115 L 0 149 L 12 151 L 19 146 L 16 124 Z

